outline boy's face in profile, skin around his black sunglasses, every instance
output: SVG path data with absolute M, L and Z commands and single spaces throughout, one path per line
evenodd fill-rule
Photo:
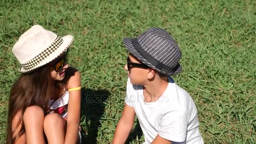
M 131 54 L 129 54 L 128 58 L 132 63 L 141 64 L 141 61 Z M 149 72 L 149 68 L 130 65 L 128 70 L 128 65 L 125 64 L 124 69 L 127 70 L 128 77 L 131 79 L 131 83 L 133 85 L 144 85 L 144 83 L 148 81 L 147 74 Z

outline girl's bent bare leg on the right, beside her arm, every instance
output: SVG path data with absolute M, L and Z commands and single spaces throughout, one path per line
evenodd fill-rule
M 48 140 L 48 144 L 64 144 L 67 121 L 57 113 L 45 116 L 43 129 Z

